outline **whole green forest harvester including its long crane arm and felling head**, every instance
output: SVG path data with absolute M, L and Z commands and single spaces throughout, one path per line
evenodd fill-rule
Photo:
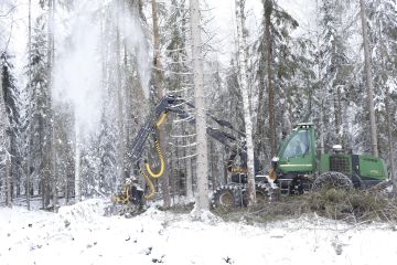
M 189 109 L 186 110 L 186 108 Z M 165 167 L 159 145 L 158 128 L 169 113 L 174 113 L 179 118 L 194 125 L 195 119 L 190 110 L 194 110 L 194 105 L 181 97 L 167 95 L 160 100 L 146 124 L 140 128 L 130 152 L 135 172 L 143 177 L 149 191 L 143 191 L 135 181 L 135 177 L 132 179 L 127 178 L 122 192 L 112 197 L 114 202 L 142 205 L 146 200 L 154 197 L 155 191 L 151 178 L 161 177 Z M 230 151 L 226 165 L 230 181 L 214 191 L 212 205 L 215 208 L 246 205 L 247 153 L 245 134 L 235 129 L 226 120 L 217 119 L 208 114 L 207 116 L 219 127 L 207 127 L 207 135 Z M 142 159 L 143 148 L 149 136 L 153 137 L 160 160 L 158 172 L 153 172 L 150 165 Z M 236 159 L 237 157 L 239 159 Z M 144 170 L 140 167 L 142 161 Z M 366 189 L 388 178 L 385 162 L 380 158 L 344 152 L 341 146 L 334 146 L 330 153 L 318 155 L 313 124 L 299 124 L 280 144 L 277 156 L 271 160 L 268 174 L 264 174 L 260 168 L 258 160 L 255 159 L 256 194 L 259 202 L 268 200 L 269 194 L 275 190 L 285 194 L 302 194 L 305 191 L 320 189 L 324 186 Z

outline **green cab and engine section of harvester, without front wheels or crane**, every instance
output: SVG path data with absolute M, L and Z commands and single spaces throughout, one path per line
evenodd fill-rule
M 380 158 L 347 153 L 340 145 L 316 153 L 313 124 L 299 124 L 272 159 L 270 179 L 285 193 L 302 193 L 324 186 L 364 189 L 388 177 Z

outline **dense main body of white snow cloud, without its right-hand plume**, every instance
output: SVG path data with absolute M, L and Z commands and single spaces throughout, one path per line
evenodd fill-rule
M 72 104 L 76 126 L 90 131 L 100 117 L 101 67 L 100 25 L 94 20 L 95 1 L 75 1 L 75 13 L 68 18 L 67 46 L 55 62 L 55 103 Z

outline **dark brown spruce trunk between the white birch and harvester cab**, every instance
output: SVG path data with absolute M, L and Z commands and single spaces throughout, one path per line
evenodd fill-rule
M 267 57 L 267 86 L 269 99 L 269 128 L 270 128 L 270 157 L 275 157 L 277 152 L 276 142 L 276 124 L 275 124 L 275 93 L 272 87 L 272 65 L 271 65 L 271 39 L 270 39 L 270 19 L 273 8 L 273 0 L 265 1 L 265 40 L 266 40 L 266 57 Z

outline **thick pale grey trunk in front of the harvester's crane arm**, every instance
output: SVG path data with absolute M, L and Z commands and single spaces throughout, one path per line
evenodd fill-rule
M 207 136 L 206 136 L 206 116 L 205 116 L 205 97 L 204 97 L 204 73 L 203 73 L 203 54 L 201 40 L 201 21 L 198 0 L 190 1 L 191 19 L 191 45 L 193 57 L 193 78 L 194 78 L 194 104 L 196 119 L 196 178 L 197 178 L 197 197 L 196 210 L 208 211 L 208 157 L 207 157 Z

